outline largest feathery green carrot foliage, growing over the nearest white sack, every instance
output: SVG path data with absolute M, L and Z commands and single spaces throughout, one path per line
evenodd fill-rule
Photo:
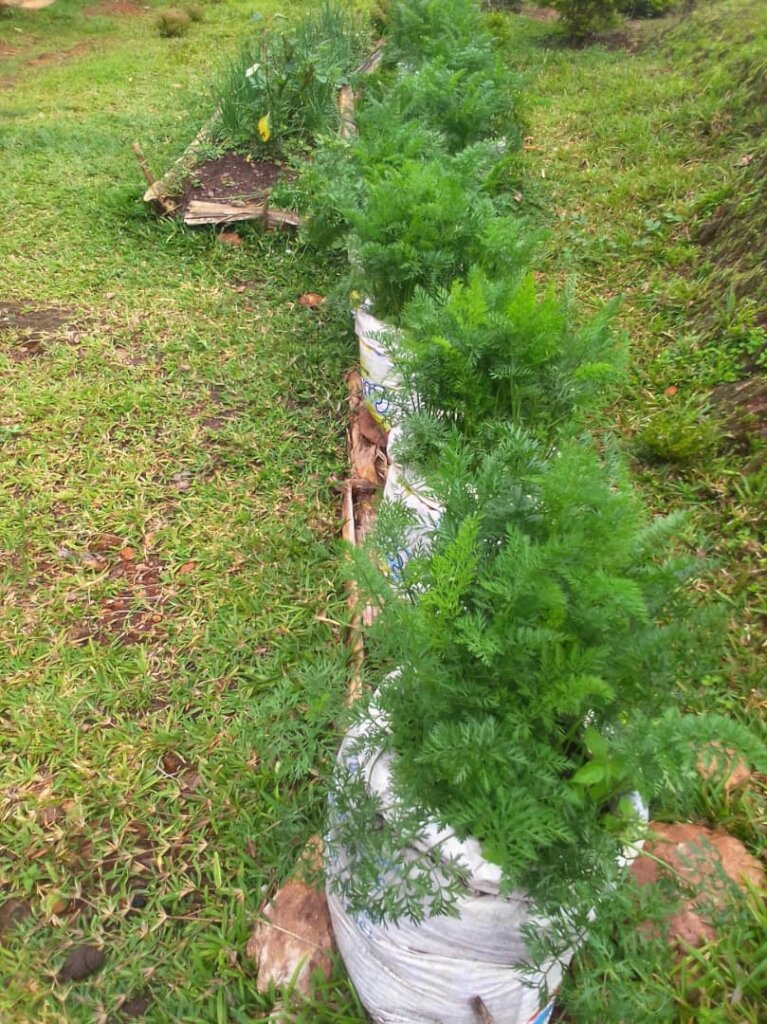
M 507 891 L 586 913 L 631 831 L 625 795 L 684 791 L 695 740 L 721 731 L 675 714 L 677 684 L 716 657 L 711 615 L 681 590 L 695 566 L 665 543 L 678 522 L 646 522 L 620 461 L 583 439 L 547 457 L 508 427 L 477 461 L 454 435 L 428 483 L 444 509 L 432 549 L 406 564 L 396 592 L 375 561 L 357 571 L 381 608 L 365 745 L 394 755 L 395 831 L 431 818 L 474 836 Z M 384 537 L 389 527 L 397 517 L 387 526 L 384 514 Z M 736 723 L 727 736 L 764 762 Z M 439 889 L 428 855 L 371 890 L 396 836 L 373 827 L 375 800 L 353 787 L 345 799 L 346 898 L 418 920 L 424 891 Z M 460 871 L 450 881 L 460 886 Z M 443 911 L 449 898 L 435 898 Z

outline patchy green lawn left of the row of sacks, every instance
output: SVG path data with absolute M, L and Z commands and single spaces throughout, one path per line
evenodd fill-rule
M 157 8 L 84 6 L 0 18 L 0 301 L 66 309 L 34 354 L 0 334 L 0 902 L 29 911 L 0 939 L 0 1019 L 146 996 L 147 1021 L 245 1021 L 270 1005 L 249 930 L 322 821 L 345 686 L 353 345 L 333 303 L 297 303 L 332 264 L 141 202 L 130 142 L 158 171 L 181 152 L 251 6 L 182 40 Z M 104 966 L 54 981 L 82 942 Z

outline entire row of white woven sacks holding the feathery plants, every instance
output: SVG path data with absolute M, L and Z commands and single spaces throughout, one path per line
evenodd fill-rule
M 359 340 L 364 400 L 389 434 L 389 471 L 384 500 L 402 503 L 413 513 L 403 550 L 389 556 L 396 582 L 408 558 L 425 550 L 428 536 L 438 525 L 441 507 L 426 487 L 396 461 L 398 427 L 392 427 L 399 385 L 389 351 L 396 330 L 361 307 L 354 314 Z M 393 458 L 392 458 L 393 452 Z M 375 712 L 373 713 L 375 715 Z M 345 737 L 339 764 L 364 778 L 381 801 L 382 812 L 394 806 L 392 756 L 365 742 L 369 724 Z M 332 817 L 332 815 L 331 815 Z M 332 829 L 332 820 L 331 820 Z M 552 963 L 538 986 L 515 965 L 525 959 L 522 927 L 530 906 L 523 894 L 500 895 L 501 873 L 485 860 L 476 840 L 460 842 L 436 825 L 427 825 L 423 841 L 446 862 L 460 857 L 469 882 L 458 903 L 458 916 L 427 919 L 422 924 L 403 920 L 381 924 L 367 914 L 352 914 L 338 892 L 338 882 L 349 870 L 343 855 L 328 865 L 328 901 L 336 941 L 346 969 L 376 1024 L 478 1024 L 484 1007 L 495 1024 L 545 1024 L 553 1000 L 540 1008 L 544 983 L 553 991 L 566 963 Z M 402 851 L 402 866 L 416 851 Z M 396 869 L 396 868 L 394 868 Z M 382 879 L 392 870 L 382 865 Z

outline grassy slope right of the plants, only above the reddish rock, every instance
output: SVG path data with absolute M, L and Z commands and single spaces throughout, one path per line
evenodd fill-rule
M 690 702 L 758 717 L 767 466 L 758 418 L 733 422 L 715 388 L 764 374 L 767 11 L 700 4 L 574 50 L 556 24 L 509 23 L 544 270 L 574 278 L 587 310 L 620 297 L 632 350 L 615 422 L 651 505 L 690 510 L 717 562 L 701 586 L 732 608 L 729 657 Z

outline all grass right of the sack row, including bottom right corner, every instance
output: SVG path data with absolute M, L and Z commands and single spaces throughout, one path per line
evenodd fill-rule
M 527 73 L 521 206 L 548 230 L 542 269 L 573 281 L 585 313 L 620 299 L 630 376 L 611 419 L 650 507 L 686 510 L 683 542 L 713 559 L 697 586 L 728 609 L 725 656 L 687 686 L 687 705 L 763 730 L 767 10 L 699 3 L 577 49 L 556 23 L 523 12 L 499 38 Z M 750 403 L 738 382 L 755 389 Z M 765 797 L 756 776 L 742 796 L 712 795 L 698 818 L 764 859 Z M 627 924 L 635 899 L 626 890 L 590 929 L 564 1020 L 762 1019 L 759 895 L 691 958 Z

